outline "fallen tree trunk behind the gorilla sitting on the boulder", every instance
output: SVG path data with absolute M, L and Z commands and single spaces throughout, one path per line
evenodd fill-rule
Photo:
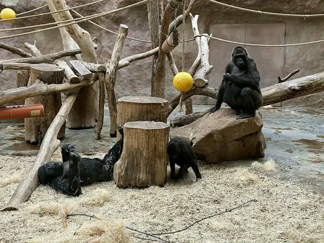
M 186 92 L 183 100 L 193 95 L 205 95 L 217 99 L 217 91 L 218 89 L 208 87 L 196 88 Z M 324 91 L 324 72 L 299 77 L 261 89 L 263 105 L 271 105 L 300 96 L 315 94 L 321 91 Z M 177 107 L 178 96 L 169 102 L 169 114 Z M 203 111 L 175 117 L 171 119 L 170 124 L 172 124 L 173 127 L 181 127 L 192 123 L 194 120 L 204 116 L 206 113 L 207 111 Z

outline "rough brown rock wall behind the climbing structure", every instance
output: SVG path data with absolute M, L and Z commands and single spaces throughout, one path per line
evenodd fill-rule
M 66 0 L 68 6 L 73 7 L 88 3 L 85 0 Z M 77 12 L 86 16 L 95 13 L 101 13 L 104 11 L 124 7 L 133 4 L 138 1 L 134 0 L 118 0 L 99 3 L 97 5 L 87 6 L 85 8 L 76 9 Z M 188 1 L 187 1 L 188 2 Z M 302 1 L 302 0 L 223 0 L 222 2 L 232 4 L 239 7 L 245 7 L 250 9 L 256 9 L 268 12 L 279 13 L 320 13 L 324 9 L 324 2 L 321 0 L 314 1 Z M 167 3 L 167 1 L 165 1 Z M 46 4 L 45 0 L 39 1 L 26 1 L 26 0 L 2 0 L 0 2 L 0 9 L 4 7 L 13 8 L 16 13 L 28 11 L 33 8 L 37 8 Z M 48 8 L 38 10 L 35 13 L 48 12 Z M 178 13 L 181 13 L 181 8 Z M 209 26 L 212 24 L 221 23 L 286 23 L 286 38 L 285 43 L 300 43 L 315 41 L 323 38 L 324 25 L 322 24 L 324 18 L 282 18 L 277 16 L 267 16 L 261 14 L 251 14 L 241 11 L 236 11 L 228 8 L 223 8 L 208 1 L 197 0 L 192 9 L 192 14 L 198 14 L 198 26 L 200 33 L 208 32 Z M 72 14 L 73 15 L 73 14 Z M 73 15 L 74 16 L 74 15 Z M 15 21 L 14 23 L 7 24 L 0 23 L 0 29 L 21 27 L 27 25 L 41 24 L 53 22 L 51 15 L 43 15 L 39 17 L 28 18 L 23 21 Z M 123 23 L 129 26 L 129 35 L 135 38 L 150 39 L 150 33 L 148 29 L 147 10 L 146 6 L 139 6 L 132 9 L 127 9 L 121 12 L 117 12 L 111 15 L 100 17 L 93 20 L 101 26 L 104 26 L 112 31 L 118 32 L 119 24 Z M 97 50 L 100 63 L 106 62 L 111 56 L 112 48 L 116 39 L 116 35 L 109 33 L 99 27 L 96 27 L 90 23 L 81 23 L 80 26 L 90 32 L 92 36 L 96 36 L 99 39 L 99 46 Z M 25 32 L 28 30 L 24 30 Z M 179 28 L 181 31 L 181 26 Z M 0 36 L 12 34 L 13 32 L 0 32 Z M 14 33 L 19 33 L 15 31 Z M 213 33 L 217 36 L 217 33 Z M 192 38 L 193 33 L 191 29 L 190 21 L 186 21 L 186 38 Z M 3 40 L 4 43 L 14 45 L 16 47 L 22 47 L 24 42 L 32 43 L 36 39 L 37 47 L 44 54 L 53 53 L 62 50 L 61 37 L 59 31 L 51 30 L 46 32 L 40 32 L 36 34 L 26 35 L 23 37 L 16 37 Z M 215 40 L 211 40 L 213 42 Z M 150 50 L 150 43 L 142 43 L 127 39 L 121 58 L 142 53 Z M 179 45 L 173 52 L 174 58 L 178 68 L 181 68 L 181 45 Z M 194 61 L 197 54 L 197 47 L 195 42 L 186 43 L 186 70 L 188 70 Z M 305 76 L 313 73 L 323 71 L 324 66 L 319 65 L 317 60 L 320 60 L 324 54 L 324 50 L 321 44 L 314 44 L 308 46 L 287 47 L 285 48 L 285 65 L 284 76 L 296 68 L 300 68 L 300 72 L 294 77 Z M 7 51 L 0 49 L 0 59 L 15 58 L 16 55 L 12 55 Z M 4 71 L 0 74 L 0 85 L 2 89 L 9 89 L 16 87 L 15 83 L 15 71 Z M 274 75 L 276 78 L 277 75 Z M 137 61 L 132 63 L 129 67 L 118 70 L 116 81 L 116 96 L 129 95 L 149 95 L 150 94 L 150 78 L 151 78 L 151 58 Z M 166 73 L 166 99 L 170 100 L 177 94 L 177 91 L 172 85 L 173 74 L 170 68 L 167 66 Z M 314 105 L 322 107 L 323 92 L 315 95 L 296 98 L 287 102 L 286 105 Z M 207 98 L 203 96 L 193 97 L 194 103 L 206 104 Z

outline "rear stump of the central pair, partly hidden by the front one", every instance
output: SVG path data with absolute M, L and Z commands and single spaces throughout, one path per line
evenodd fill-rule
M 151 96 L 126 96 L 118 99 L 117 125 L 129 121 L 154 120 L 167 123 L 168 101 Z M 117 140 L 121 138 L 117 133 Z

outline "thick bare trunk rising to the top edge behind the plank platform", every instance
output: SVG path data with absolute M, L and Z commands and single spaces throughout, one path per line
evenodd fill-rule
M 68 8 L 65 0 L 47 0 L 47 3 L 51 11 L 54 9 L 64 10 Z M 56 18 L 56 21 L 73 19 L 69 11 L 55 13 L 53 14 L 53 17 Z M 79 48 L 82 50 L 83 61 L 97 64 L 97 55 L 89 32 L 81 28 L 78 24 L 65 26 L 64 29 L 71 37 L 68 38 L 66 32 L 64 32 L 65 35 L 62 35 L 63 44 L 64 42 L 68 42 L 67 45 L 77 44 L 77 46 L 79 46 Z M 79 61 L 81 60 L 79 59 Z M 95 126 L 95 120 L 98 119 L 99 114 L 99 101 L 97 97 L 98 89 L 99 86 L 97 84 L 92 87 L 83 87 L 80 89 L 77 100 L 74 102 L 67 119 L 68 128 L 86 129 L 93 128 Z

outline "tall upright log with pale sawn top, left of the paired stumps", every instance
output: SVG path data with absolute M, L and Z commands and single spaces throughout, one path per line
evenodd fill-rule
M 128 34 L 127 25 L 120 24 L 118 36 L 112 50 L 111 59 L 106 64 L 107 71 L 105 77 L 105 84 L 107 89 L 108 107 L 109 107 L 109 115 L 110 115 L 109 136 L 112 138 L 115 138 L 117 135 L 117 123 L 116 123 L 117 104 L 116 104 L 116 96 L 114 91 L 116 76 L 117 76 L 117 66 L 118 66 L 121 50 L 123 50 L 123 46 L 127 34 Z

